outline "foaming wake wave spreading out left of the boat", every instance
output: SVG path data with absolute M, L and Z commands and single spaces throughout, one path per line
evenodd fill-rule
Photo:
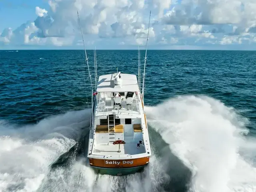
M 1 121 L 0 191 L 37 190 L 50 165 L 78 141 L 89 114 L 68 112 L 22 127 Z

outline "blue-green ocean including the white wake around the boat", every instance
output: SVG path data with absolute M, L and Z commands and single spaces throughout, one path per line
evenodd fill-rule
M 152 158 L 142 173 L 113 177 L 85 163 L 91 99 L 83 50 L 0 50 L 0 191 L 255 192 L 255 58 L 148 50 Z M 97 65 L 98 76 L 116 67 L 138 74 L 138 52 L 98 50 Z

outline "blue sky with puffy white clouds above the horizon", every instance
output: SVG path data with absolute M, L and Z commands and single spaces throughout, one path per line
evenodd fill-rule
M 87 49 L 256 50 L 256 0 L 0 0 L 0 49 L 82 49 L 77 10 Z

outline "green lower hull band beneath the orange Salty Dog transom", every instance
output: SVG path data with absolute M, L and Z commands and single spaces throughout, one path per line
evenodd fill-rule
M 144 170 L 144 167 L 147 166 L 138 166 L 138 167 L 130 167 L 130 168 L 104 168 L 104 167 L 94 167 L 91 168 L 97 173 L 102 175 L 112 175 L 112 176 L 124 176 L 129 174 L 135 174 L 137 172 L 141 172 Z

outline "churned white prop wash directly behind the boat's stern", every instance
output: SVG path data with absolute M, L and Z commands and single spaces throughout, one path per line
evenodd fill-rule
M 44 189 L 52 191 L 65 190 L 68 192 L 88 191 L 88 192 L 137 192 L 137 191 L 164 191 L 159 190 L 165 182 L 165 176 L 161 173 L 162 167 L 153 156 L 152 163 L 142 173 L 128 175 L 127 177 L 117 177 L 96 174 L 89 167 L 85 166 L 84 159 L 74 162 L 69 168 L 60 167 L 48 175 Z M 157 164 L 159 166 L 157 166 Z

